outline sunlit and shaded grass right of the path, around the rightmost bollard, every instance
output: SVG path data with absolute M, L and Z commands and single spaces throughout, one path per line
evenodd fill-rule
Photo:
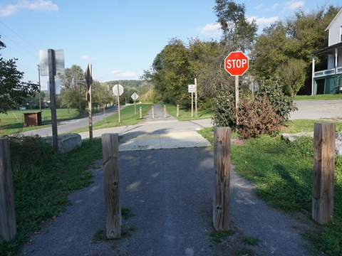
M 312 125 L 311 125 L 312 124 Z M 314 120 L 295 120 L 284 131 L 308 132 L 314 130 Z M 341 123 L 338 123 L 341 126 Z M 213 129 L 199 131 L 213 144 Z M 232 138 L 237 134 L 232 133 Z M 234 144 L 232 164 L 240 176 L 253 181 L 257 194 L 270 206 L 290 213 L 311 215 L 314 145 L 311 138 L 302 138 L 291 144 L 276 137 L 261 136 Z M 306 233 L 311 250 L 329 255 L 342 253 L 342 157 L 336 157 L 334 219 L 323 225 L 320 233 Z

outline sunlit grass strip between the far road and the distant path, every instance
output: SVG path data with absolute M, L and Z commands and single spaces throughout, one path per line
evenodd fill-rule
M 126 125 L 138 124 L 138 122 L 142 122 L 144 119 L 140 119 L 139 107 L 142 107 L 142 117 L 144 117 L 147 112 L 152 108 L 153 104 L 137 104 L 137 114 L 134 112 L 134 105 L 128 105 L 120 110 L 120 119 L 119 123 L 118 113 L 112 114 L 109 117 L 101 120 L 100 122 L 96 122 L 93 124 L 93 130 L 95 129 L 105 129 L 110 127 L 120 127 Z M 73 133 L 78 132 L 88 132 L 89 128 L 84 127 L 82 129 L 76 129 L 72 131 Z

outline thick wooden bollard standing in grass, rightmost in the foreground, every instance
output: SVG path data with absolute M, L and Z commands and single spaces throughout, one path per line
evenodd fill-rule
M 319 224 L 328 223 L 333 217 L 335 139 L 334 123 L 315 123 L 312 219 Z

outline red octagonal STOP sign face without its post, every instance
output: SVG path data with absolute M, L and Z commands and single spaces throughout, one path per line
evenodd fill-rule
M 224 69 L 230 75 L 243 75 L 248 69 L 248 57 L 241 51 L 229 53 L 224 59 Z

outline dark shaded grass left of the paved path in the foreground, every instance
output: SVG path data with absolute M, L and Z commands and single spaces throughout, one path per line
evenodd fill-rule
M 0 244 L 0 255 L 16 255 L 28 235 L 63 212 L 68 194 L 90 185 L 86 170 L 102 157 L 100 139 L 83 140 L 81 148 L 56 155 L 39 138 L 10 138 L 10 150 L 17 235 Z

